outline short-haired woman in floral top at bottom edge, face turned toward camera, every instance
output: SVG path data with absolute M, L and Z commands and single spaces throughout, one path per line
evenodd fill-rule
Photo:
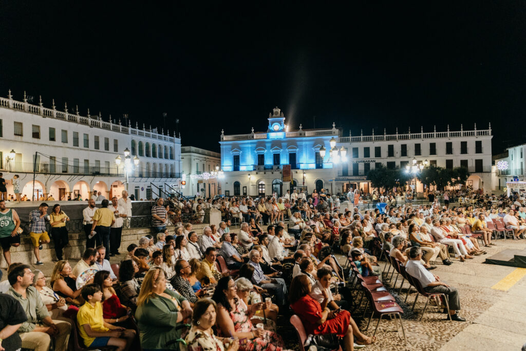
M 185 338 L 188 351 L 236 351 L 239 348 L 238 338 L 220 338 L 214 335 L 212 327 L 216 323 L 216 303 L 204 298 L 194 306 L 192 327 Z

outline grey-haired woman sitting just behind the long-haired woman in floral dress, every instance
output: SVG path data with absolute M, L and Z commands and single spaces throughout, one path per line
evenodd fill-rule
M 252 285 L 247 278 L 237 278 L 236 287 L 237 296 L 242 299 L 249 308 L 251 305 L 262 302 L 262 296 L 254 290 L 254 285 Z M 279 307 L 277 305 L 272 304 L 271 302 L 266 302 L 265 311 L 263 309 L 258 309 L 250 320 L 252 324 L 256 325 L 258 323 L 265 323 L 266 319 L 267 322 L 265 329 L 276 332 L 278 312 Z

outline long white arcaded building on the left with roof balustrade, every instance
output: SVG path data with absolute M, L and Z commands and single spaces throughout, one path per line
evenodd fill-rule
M 138 165 L 126 173 L 124 151 Z M 102 117 L 80 116 L 56 107 L 0 97 L 0 172 L 8 180 L 7 192 L 13 194 L 11 178 L 20 176 L 21 195 L 36 198 L 53 195 L 56 200 L 85 200 L 90 191 L 100 191 L 106 198 L 129 194 L 140 198 L 155 197 L 165 184 L 179 185 L 181 169 L 180 138 L 157 133 L 156 129 L 139 129 L 131 123 L 121 125 L 103 121 Z M 13 156 L 13 157 L 12 157 Z M 116 158 L 121 158 L 119 166 Z M 33 187 L 33 172 L 35 186 Z

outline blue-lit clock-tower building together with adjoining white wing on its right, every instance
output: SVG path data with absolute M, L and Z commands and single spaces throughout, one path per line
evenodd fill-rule
M 328 189 L 331 194 L 360 188 L 371 192 L 367 180 L 370 169 L 383 164 L 404 168 L 413 159 L 445 168 L 466 167 L 468 185 L 491 189 L 491 126 L 471 131 L 404 133 L 348 136 L 333 124 L 329 129 L 289 131 L 285 116 L 274 108 L 268 117 L 267 132 L 225 135 L 221 133 L 222 190 L 225 195 L 285 194 L 297 188 L 311 193 Z M 346 161 L 335 162 L 331 142 L 345 150 Z M 325 156 L 322 157 L 323 150 Z M 285 166 L 285 167 L 284 167 Z M 290 166 L 290 177 L 288 167 Z M 284 181 L 285 168 L 285 181 Z M 423 185 L 417 184 L 417 191 Z

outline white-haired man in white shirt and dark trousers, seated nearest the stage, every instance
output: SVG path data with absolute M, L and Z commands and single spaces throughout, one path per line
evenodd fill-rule
M 420 259 L 422 259 L 422 251 L 420 250 L 420 247 L 411 247 L 409 250 L 409 260 L 406 263 L 406 272 L 416 278 L 427 293 L 441 293 L 447 295 L 449 311 L 445 312 L 449 313 L 452 320 L 466 322 L 465 318 L 462 318 L 457 314 L 457 310 L 460 309 L 460 297 L 457 288 L 449 286 L 444 282 L 440 282 L 440 278 L 429 272 L 422 265 Z

